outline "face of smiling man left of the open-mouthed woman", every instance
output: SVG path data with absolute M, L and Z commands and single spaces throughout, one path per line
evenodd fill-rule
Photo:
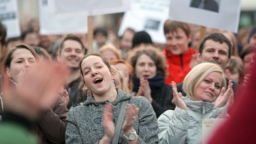
M 78 69 L 81 59 L 85 56 L 82 45 L 75 40 L 66 40 L 61 50 L 59 61 L 71 69 Z

